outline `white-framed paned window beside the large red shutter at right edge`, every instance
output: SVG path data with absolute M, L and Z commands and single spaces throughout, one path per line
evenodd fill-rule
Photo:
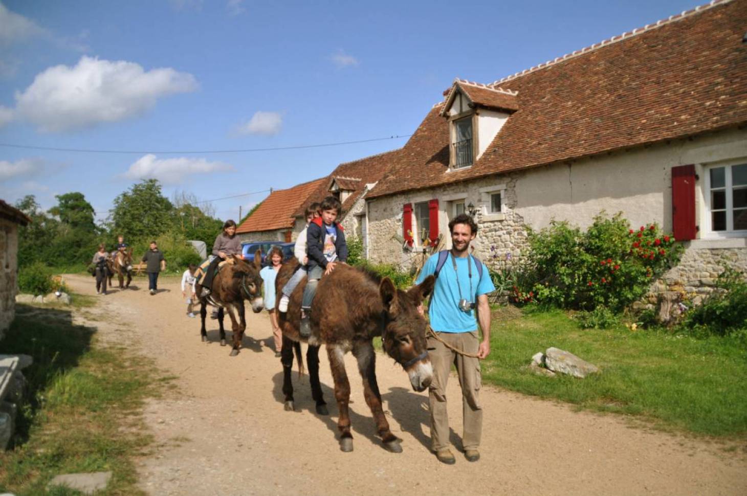
M 747 164 L 716 165 L 705 174 L 706 233 L 747 234 Z

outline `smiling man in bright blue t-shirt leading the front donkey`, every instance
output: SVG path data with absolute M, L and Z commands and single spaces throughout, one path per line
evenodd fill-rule
M 433 336 L 428 337 L 428 354 L 433 365 L 433 382 L 428 388 L 430 406 L 431 449 L 439 461 L 449 465 L 456 459 L 449 449 L 449 416 L 446 409 L 446 383 L 451 364 L 456 365 L 462 386 L 464 433 L 462 444 L 470 462 L 480 459 L 480 435 L 483 431 L 483 408 L 480 406 L 480 359 L 490 353 L 490 306 L 488 294 L 495 291 L 488 269 L 483 262 L 469 255 L 470 241 L 477 235 L 472 217 L 461 214 L 449 223 L 450 249 L 444 264 L 436 274 L 436 286 L 428 306 L 430 326 L 441 341 L 455 350 L 477 354 L 464 356 L 447 347 Z M 478 270 L 477 264 L 482 264 Z M 438 253 L 426 261 L 416 284 L 436 273 Z M 477 320 L 475 319 L 477 317 Z M 483 339 L 477 334 L 477 323 L 483 329 Z

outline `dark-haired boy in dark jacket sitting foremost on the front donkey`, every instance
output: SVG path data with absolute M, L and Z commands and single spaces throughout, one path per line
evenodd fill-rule
M 319 279 L 335 270 L 338 261 L 347 261 L 345 233 L 340 223 L 335 222 L 342 211 L 340 200 L 334 196 L 327 196 L 319 209 L 320 217 L 311 221 L 306 232 L 306 242 L 309 246 L 309 280 L 306 282 L 306 288 L 303 288 L 300 325 L 300 333 L 304 338 L 311 335 L 309 314 Z

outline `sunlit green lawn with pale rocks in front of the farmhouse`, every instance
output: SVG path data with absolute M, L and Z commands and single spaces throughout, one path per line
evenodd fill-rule
M 747 349 L 728 338 L 665 331 L 580 329 L 563 311 L 494 311 L 483 381 L 583 409 L 638 415 L 657 427 L 747 439 Z M 586 379 L 527 369 L 558 347 L 601 368 Z

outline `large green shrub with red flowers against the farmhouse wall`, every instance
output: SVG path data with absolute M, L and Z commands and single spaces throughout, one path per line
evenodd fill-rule
M 652 279 L 680 259 L 683 248 L 657 224 L 630 229 L 622 213 L 595 217 L 586 232 L 567 222 L 529 234 L 527 259 L 536 279 L 530 287 L 539 302 L 561 308 L 612 311 L 639 300 Z

